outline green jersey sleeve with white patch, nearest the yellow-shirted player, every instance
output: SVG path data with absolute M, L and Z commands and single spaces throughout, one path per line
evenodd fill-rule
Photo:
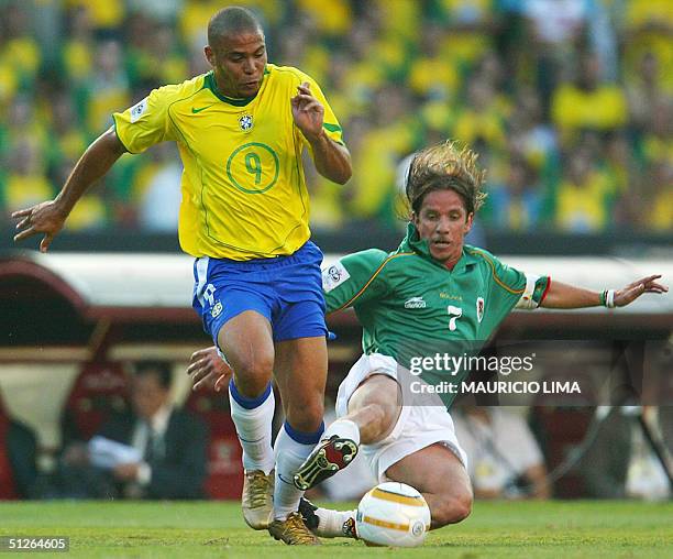
M 388 254 L 369 249 L 342 257 L 322 270 L 322 291 L 327 313 L 335 313 L 353 305 L 362 305 L 386 293 L 380 274 Z

